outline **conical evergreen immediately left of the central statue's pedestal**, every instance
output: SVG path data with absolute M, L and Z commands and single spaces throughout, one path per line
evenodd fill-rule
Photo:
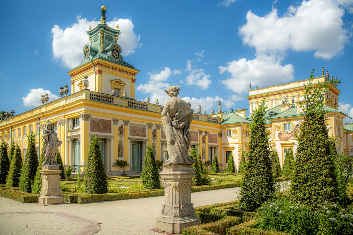
M 154 158 L 155 150 L 151 145 L 147 145 L 145 159 L 143 161 L 143 169 L 141 171 L 141 182 L 145 189 L 162 188 L 160 175 L 158 173 L 156 160 Z

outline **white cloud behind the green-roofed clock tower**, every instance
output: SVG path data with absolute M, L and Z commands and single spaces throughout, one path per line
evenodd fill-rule
M 79 65 L 84 58 L 83 46 L 90 44 L 86 31 L 88 31 L 90 25 L 94 28 L 98 23 L 100 24 L 100 21 L 89 21 L 77 16 L 77 22 L 65 28 L 65 30 L 61 29 L 59 25 L 54 25 L 52 28 L 53 58 L 61 60 L 62 64 L 70 69 Z M 114 19 L 107 22 L 108 26 L 112 28 L 115 28 L 117 23 L 119 23 L 121 32 L 117 42 L 122 49 L 121 55 L 131 55 L 142 46 L 142 43 L 139 43 L 140 36 L 133 31 L 134 25 L 131 19 Z

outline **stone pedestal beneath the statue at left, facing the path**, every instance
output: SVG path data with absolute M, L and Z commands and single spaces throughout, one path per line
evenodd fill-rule
M 38 198 L 40 204 L 58 204 L 64 203 L 64 196 L 60 189 L 59 166 L 44 165 L 41 172 L 42 190 Z

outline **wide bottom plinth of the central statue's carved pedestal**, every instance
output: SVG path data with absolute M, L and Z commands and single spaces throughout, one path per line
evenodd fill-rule
M 200 225 L 200 219 L 196 215 L 184 217 L 160 216 L 157 218 L 157 229 L 167 233 L 181 233 L 183 228 Z

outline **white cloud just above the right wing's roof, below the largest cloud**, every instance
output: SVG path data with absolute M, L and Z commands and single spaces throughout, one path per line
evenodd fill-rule
M 219 66 L 220 73 L 229 72 L 231 78 L 221 81 L 226 88 L 234 91 L 233 100 L 239 100 L 255 86 L 263 87 L 294 80 L 294 66 L 292 64 L 281 65 L 282 58 L 268 55 L 258 55 L 253 60 L 241 58 L 227 63 L 227 66 Z

